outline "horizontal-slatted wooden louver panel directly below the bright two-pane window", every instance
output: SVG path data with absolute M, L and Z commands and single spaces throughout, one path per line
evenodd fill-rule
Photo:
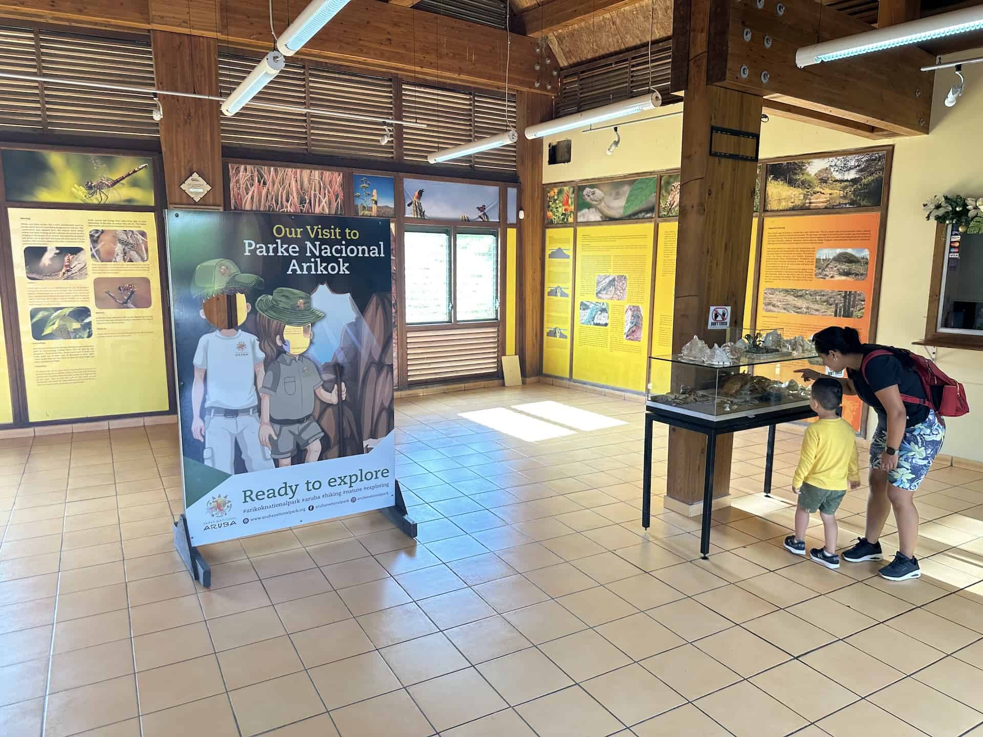
M 498 326 L 408 330 L 409 383 L 424 383 L 498 372 Z

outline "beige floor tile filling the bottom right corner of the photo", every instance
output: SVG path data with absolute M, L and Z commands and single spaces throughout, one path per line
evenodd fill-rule
M 912 678 L 879 691 L 870 701 L 932 737 L 962 734 L 983 722 L 983 713 Z

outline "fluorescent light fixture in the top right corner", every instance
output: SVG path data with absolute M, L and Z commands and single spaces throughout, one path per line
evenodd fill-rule
M 808 67 L 973 30 L 983 30 L 983 5 L 803 46 L 795 52 L 795 64 L 799 68 Z

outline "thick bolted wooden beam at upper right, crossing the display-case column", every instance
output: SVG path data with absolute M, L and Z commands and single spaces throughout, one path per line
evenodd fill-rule
M 691 1 L 674 4 L 673 92 L 687 86 Z M 741 0 L 713 0 L 712 5 L 709 84 L 759 94 L 766 104 L 776 100 L 815 111 L 818 122 L 838 118 L 889 136 L 928 133 L 934 78 L 920 68 L 933 63 L 931 54 L 909 46 L 799 69 L 798 48 L 871 27 L 814 0 L 783 0 L 781 16 L 778 3 L 765 3 L 762 9 Z M 750 40 L 745 40 L 746 31 Z

